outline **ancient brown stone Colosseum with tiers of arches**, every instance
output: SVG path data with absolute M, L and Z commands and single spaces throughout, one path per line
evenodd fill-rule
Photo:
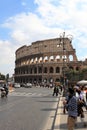
M 60 81 L 62 77 L 66 78 L 65 70 L 79 70 L 82 67 L 67 37 L 24 45 L 16 50 L 15 55 L 15 82 L 18 83 Z

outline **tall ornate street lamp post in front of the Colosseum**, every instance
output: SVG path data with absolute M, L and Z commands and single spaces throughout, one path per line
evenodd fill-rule
M 63 32 L 62 34 L 60 34 L 59 37 L 59 43 L 57 44 L 57 47 L 62 47 L 62 77 L 63 77 L 63 85 L 65 86 L 65 62 L 66 62 L 66 48 L 65 48 L 65 42 L 66 42 L 66 38 L 68 38 L 70 40 L 70 43 L 72 41 L 72 35 L 67 35 L 65 37 L 65 32 Z

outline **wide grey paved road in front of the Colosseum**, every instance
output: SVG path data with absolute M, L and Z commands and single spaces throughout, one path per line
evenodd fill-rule
M 0 99 L 0 130 L 51 129 L 58 97 L 48 88 L 16 88 Z

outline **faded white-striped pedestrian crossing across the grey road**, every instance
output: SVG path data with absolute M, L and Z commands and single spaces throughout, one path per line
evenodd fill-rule
M 9 93 L 9 96 L 25 96 L 25 97 L 41 97 L 41 96 L 48 96 L 49 94 L 44 93 L 28 93 L 28 92 L 12 92 Z

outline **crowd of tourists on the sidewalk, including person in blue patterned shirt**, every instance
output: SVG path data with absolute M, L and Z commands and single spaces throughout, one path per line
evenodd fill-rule
M 87 86 L 76 85 L 69 87 L 63 106 L 63 113 L 68 113 L 68 130 L 74 130 L 74 127 L 78 124 L 78 117 L 80 117 L 83 126 L 87 126 L 84 120 L 84 110 L 87 110 Z

